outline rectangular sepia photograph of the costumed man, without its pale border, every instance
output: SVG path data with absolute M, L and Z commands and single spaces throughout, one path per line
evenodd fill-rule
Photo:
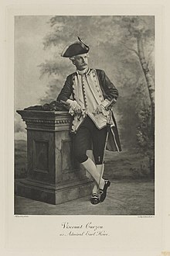
M 14 17 L 15 215 L 155 216 L 155 16 Z

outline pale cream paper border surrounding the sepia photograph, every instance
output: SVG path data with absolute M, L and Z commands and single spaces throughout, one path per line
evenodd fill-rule
M 12 56 L 14 56 L 14 49 L 13 49 L 13 17 L 15 15 L 39 15 L 42 12 L 46 12 L 49 15 L 53 13 L 56 14 L 56 9 L 59 14 L 66 13 L 66 5 L 50 5 L 49 9 L 45 9 L 46 6 L 39 6 L 32 5 L 29 6 L 8 6 L 6 9 L 6 31 L 5 31 L 5 38 L 6 38 L 6 46 L 5 46 L 5 82 L 7 83 L 5 86 L 5 95 L 8 95 L 8 102 L 13 102 L 14 99 L 14 91 L 13 91 L 13 61 Z M 85 5 L 70 5 L 69 12 L 71 9 L 73 13 L 78 11 L 79 15 L 84 15 L 84 9 L 82 8 Z M 162 149 L 162 138 L 158 137 L 158 130 L 162 128 L 164 123 L 161 123 L 162 120 L 162 108 L 160 109 L 159 106 L 162 106 L 162 100 L 165 100 L 165 92 L 162 92 L 162 81 L 164 81 L 164 66 L 163 66 L 163 57 L 162 52 L 159 49 L 164 49 L 164 43 L 162 39 L 165 38 L 165 30 L 163 29 L 163 25 L 165 25 L 164 20 L 164 12 L 163 6 L 159 5 L 98 5 L 97 10 L 91 10 L 89 8 L 91 5 L 86 5 L 87 12 L 90 15 L 93 15 L 92 12 L 96 11 L 98 14 L 99 9 L 102 13 L 110 13 L 113 12 L 112 9 L 109 7 L 111 6 L 114 9 L 112 15 L 116 15 L 115 13 L 119 13 L 118 15 L 124 15 L 124 12 L 128 12 L 129 15 L 133 15 L 132 13 L 135 12 L 135 15 L 139 15 L 138 13 L 141 12 L 143 15 L 155 15 L 156 17 L 156 50 L 155 50 L 155 64 L 156 64 L 156 126 L 155 126 L 155 133 L 156 133 L 156 144 L 155 144 L 155 217 L 144 217 L 144 216 L 13 216 L 13 192 L 14 192 L 14 170 L 12 168 L 12 164 L 14 163 L 14 145 L 13 145 L 13 107 L 11 109 L 5 111 L 4 119 L 5 119 L 5 153 L 8 152 L 10 155 L 10 161 L 5 161 L 4 168 L 5 170 L 5 247 L 15 253 L 15 251 L 22 251 L 24 253 L 30 253 L 32 251 L 42 252 L 42 251 L 50 251 L 50 253 L 54 253 L 57 249 L 58 252 L 66 251 L 68 252 L 70 249 L 72 250 L 79 250 L 83 251 L 86 250 L 88 254 L 112 254 L 116 252 L 117 255 L 121 254 L 122 251 L 126 251 L 128 254 L 131 252 L 132 254 L 137 255 L 136 253 L 139 252 L 141 255 L 151 255 L 153 252 L 159 252 L 162 254 L 164 251 L 165 246 L 165 234 L 168 234 L 164 231 L 165 223 L 167 220 L 163 220 L 163 216 L 165 216 L 165 211 L 169 208 L 167 205 L 167 200 L 164 198 L 164 195 L 167 195 L 168 187 L 164 187 L 164 184 L 167 185 L 165 176 L 162 177 L 161 169 L 162 169 L 162 160 L 165 160 L 165 155 L 163 152 L 160 152 L 160 148 Z M 95 6 L 95 5 L 93 5 Z M 147 7 L 147 11 L 146 11 Z M 148 8 L 149 7 L 149 8 Z M 60 9 L 59 9 L 60 8 Z M 42 9 L 42 10 L 41 10 Z M 135 11 L 136 9 L 136 11 Z M 138 10 L 138 11 L 137 11 Z M 121 13 L 121 14 L 120 14 Z M 131 13 L 131 14 L 130 14 Z M 44 14 L 43 14 L 44 15 Z M 110 14 L 108 14 L 110 15 Z M 164 51 L 163 51 L 164 52 Z M 8 75 L 9 73 L 9 75 Z M 164 103 L 165 104 L 165 103 Z M 13 105 L 12 105 L 13 106 Z M 165 107 L 166 109 L 166 107 Z M 165 116 L 163 116 L 165 118 Z M 165 121 L 165 119 L 163 119 Z M 164 130 L 164 129 L 163 129 Z M 164 151 L 165 152 L 165 151 Z M 7 156 L 7 155 L 6 155 Z M 13 185 L 12 185 L 13 184 Z M 164 199 L 162 199 L 164 198 Z M 91 238 L 86 239 L 86 247 L 84 244 L 84 239 L 82 240 L 81 237 L 59 237 L 59 234 L 62 231 L 62 223 L 69 220 L 72 224 L 77 224 L 77 219 L 79 219 L 79 223 L 86 225 L 88 222 L 96 223 L 97 225 L 104 225 L 108 234 L 110 234 L 107 238 L 99 238 L 97 239 L 97 244 L 100 246 L 97 250 L 93 249 L 93 242 L 94 239 Z M 105 219 L 105 220 L 104 220 Z M 107 219 L 107 220 L 106 220 Z M 114 219 L 114 220 L 113 220 Z M 117 225 L 118 224 L 118 225 Z M 134 225 L 134 228 L 131 227 Z M 48 226 L 48 228 L 47 228 Z M 32 234 L 32 228 L 35 228 L 34 234 Z M 131 229 L 131 232 L 127 232 L 128 229 Z M 23 230 L 24 236 L 22 234 Z M 116 230 L 116 232 L 115 232 Z M 147 234 L 147 232 L 148 234 Z M 159 232 L 160 231 L 160 232 Z M 44 234 L 44 237 L 42 236 Z M 124 246 L 122 246 L 122 236 L 125 238 Z M 152 237 L 151 237 L 152 234 Z M 117 238 L 118 237 L 118 238 Z M 152 238 L 152 239 L 151 239 Z M 36 239 L 36 244 L 35 240 Z M 123 239 L 123 238 L 122 238 Z M 148 239 L 150 242 L 148 244 Z M 114 240 L 114 244 L 111 242 Z M 28 243 L 29 241 L 29 243 Z M 59 247 L 56 247 L 57 245 Z M 67 244 L 65 248 L 63 248 L 63 244 Z M 76 247 L 75 247 L 76 244 Z M 31 245 L 31 246 L 30 246 Z M 42 247 L 42 245 L 46 245 Z M 167 244 L 168 245 L 168 244 Z M 166 246 L 167 246 L 166 245 Z M 65 250 L 66 249 L 66 250 Z M 105 251 L 104 251 L 105 250 Z M 75 255 L 74 251 L 74 255 Z M 102 252 L 103 251 L 103 252 Z

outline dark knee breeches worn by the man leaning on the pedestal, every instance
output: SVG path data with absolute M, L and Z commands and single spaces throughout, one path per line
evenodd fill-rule
M 93 144 L 93 157 L 95 164 L 102 164 L 104 158 L 104 146 L 107 136 L 107 127 L 97 129 L 89 116 L 80 125 L 74 137 L 74 154 L 80 163 L 87 161 L 87 150 Z

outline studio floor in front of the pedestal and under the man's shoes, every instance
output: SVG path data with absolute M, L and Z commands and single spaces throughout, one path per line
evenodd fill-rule
M 104 202 L 93 206 L 90 197 L 60 205 L 15 196 L 15 215 L 154 215 L 154 180 L 111 180 Z

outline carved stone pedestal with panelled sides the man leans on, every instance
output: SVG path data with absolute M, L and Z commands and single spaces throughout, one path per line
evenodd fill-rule
M 90 195 L 93 182 L 73 156 L 68 112 L 18 110 L 27 130 L 28 177 L 15 181 L 15 193 L 59 204 Z

